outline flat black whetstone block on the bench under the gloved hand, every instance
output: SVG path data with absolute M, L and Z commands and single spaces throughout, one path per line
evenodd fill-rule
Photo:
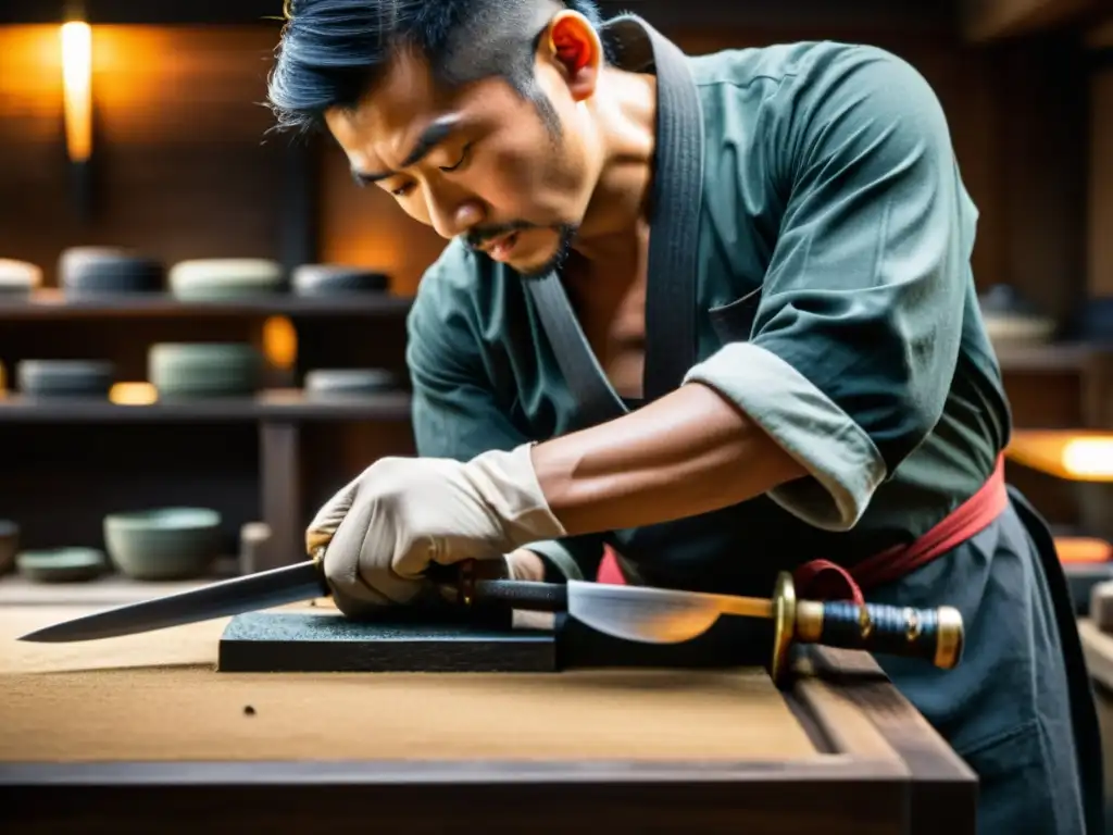
M 555 672 L 554 632 L 252 612 L 220 636 L 223 672 Z

